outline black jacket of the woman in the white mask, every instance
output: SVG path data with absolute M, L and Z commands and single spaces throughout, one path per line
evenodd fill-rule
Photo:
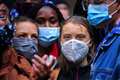
M 61 69 L 57 80 L 89 80 L 90 66 L 71 68 L 69 71 Z

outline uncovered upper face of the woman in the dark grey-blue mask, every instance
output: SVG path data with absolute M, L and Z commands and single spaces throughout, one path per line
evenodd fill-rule
M 30 38 L 36 41 L 38 36 L 37 26 L 31 22 L 19 22 L 16 24 L 15 37 Z

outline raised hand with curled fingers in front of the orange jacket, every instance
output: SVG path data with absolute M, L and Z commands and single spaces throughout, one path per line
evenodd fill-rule
M 44 55 L 43 57 L 34 55 L 34 58 L 32 59 L 33 69 L 41 77 L 50 74 L 50 68 L 53 64 L 53 61 L 50 61 L 48 64 L 47 60 L 48 60 L 48 55 Z

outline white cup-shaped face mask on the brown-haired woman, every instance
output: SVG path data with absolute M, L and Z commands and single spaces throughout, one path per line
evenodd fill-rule
M 81 62 L 88 54 L 89 47 L 83 41 L 71 39 L 61 44 L 61 51 L 68 61 L 76 63 Z

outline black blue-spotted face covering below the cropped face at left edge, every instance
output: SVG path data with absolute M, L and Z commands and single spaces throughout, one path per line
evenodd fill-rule
M 0 46 L 10 45 L 10 40 L 13 37 L 14 27 L 8 24 L 0 27 Z

